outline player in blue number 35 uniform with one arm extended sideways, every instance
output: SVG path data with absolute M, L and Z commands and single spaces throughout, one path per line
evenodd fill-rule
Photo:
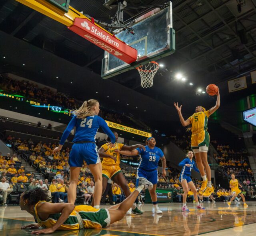
M 158 162 L 162 161 L 162 175 L 166 176 L 166 159 L 164 153 L 160 148 L 156 147 L 156 140 L 153 137 L 149 137 L 146 140 L 146 151 L 137 148 L 132 151 L 120 151 L 116 150 L 126 156 L 137 156 L 140 155 L 140 164 L 137 172 L 137 181 L 136 186 L 138 186 L 139 178 L 145 178 L 153 184 L 153 188 L 149 190 L 152 203 L 154 205 L 153 213 L 162 214 L 162 211 L 159 210 L 157 205 L 157 196 L 156 196 L 156 184 L 158 182 Z

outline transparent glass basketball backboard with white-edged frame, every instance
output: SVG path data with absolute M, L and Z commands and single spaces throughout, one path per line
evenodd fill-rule
M 164 9 L 155 8 L 135 19 L 134 34 L 119 29 L 114 34 L 138 51 L 138 57 L 127 64 L 108 52 L 102 60 L 102 78 L 107 79 L 175 52 L 175 30 L 172 28 L 172 3 Z

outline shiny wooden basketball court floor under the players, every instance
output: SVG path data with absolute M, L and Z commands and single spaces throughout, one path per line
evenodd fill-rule
M 104 229 L 89 229 L 75 231 L 58 231 L 51 235 L 255 235 L 256 202 L 248 202 L 228 207 L 226 202 L 205 203 L 206 210 L 196 210 L 195 204 L 189 203 L 191 212 L 182 212 L 181 204 L 159 204 L 163 215 L 153 215 L 152 205 L 140 206 L 143 215 L 126 215 L 122 220 Z M 108 206 L 106 206 L 108 208 Z M 0 208 L 0 235 L 30 235 L 30 230 L 20 230 L 20 227 L 34 222 L 27 212 L 19 206 Z

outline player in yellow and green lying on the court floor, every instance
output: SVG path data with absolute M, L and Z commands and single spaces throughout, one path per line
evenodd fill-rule
M 96 209 L 92 206 L 72 203 L 46 202 L 48 195 L 41 188 L 27 190 L 20 196 L 20 209 L 26 210 L 36 221 L 21 227 L 45 229 L 32 231 L 31 234 L 51 234 L 56 230 L 79 230 L 86 228 L 104 228 L 121 220 L 144 189 L 152 189 L 153 184 L 145 178 L 140 178 L 138 187 L 120 204 L 108 209 Z

